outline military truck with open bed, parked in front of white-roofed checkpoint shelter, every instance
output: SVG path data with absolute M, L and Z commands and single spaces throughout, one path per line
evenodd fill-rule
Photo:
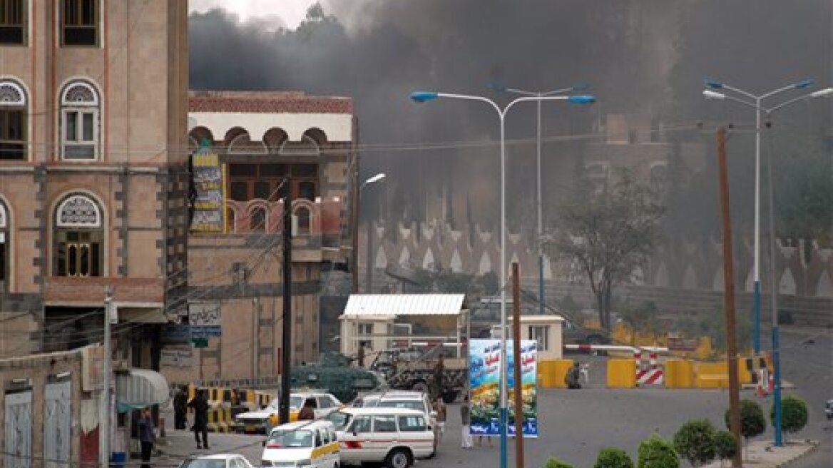
M 440 361 L 441 382 L 437 387 L 437 366 Z M 389 388 L 424 391 L 431 396 L 441 396 L 446 404 L 454 402 L 468 383 L 466 358 L 446 357 L 442 346 L 432 346 L 427 350 L 407 348 L 379 351 L 370 369 L 382 373 Z

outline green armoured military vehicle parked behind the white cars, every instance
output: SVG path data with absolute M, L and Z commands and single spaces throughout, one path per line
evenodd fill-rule
M 293 366 L 290 371 L 292 388 L 316 388 L 330 392 L 345 403 L 357 395 L 385 386 L 382 373 L 351 366 L 351 359 L 341 353 L 322 353 L 318 362 Z

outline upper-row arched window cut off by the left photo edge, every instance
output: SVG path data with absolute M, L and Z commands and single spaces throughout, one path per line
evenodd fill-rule
M 27 159 L 27 114 L 23 88 L 0 81 L 0 160 Z

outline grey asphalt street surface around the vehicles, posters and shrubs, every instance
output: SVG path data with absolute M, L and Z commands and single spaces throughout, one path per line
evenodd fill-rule
M 824 402 L 833 398 L 831 386 L 831 353 L 833 341 L 830 331 L 816 329 L 788 329 L 782 334 L 782 372 L 786 381 L 796 385 L 793 390 L 808 401 L 810 421 L 805 430 L 795 437 L 821 441 L 819 450 L 796 461 L 797 468 L 830 468 L 831 436 L 833 425 L 825 420 Z M 551 456 L 570 462 L 576 467 L 592 466 L 602 447 L 620 447 L 636 460 L 639 442 L 657 432 L 671 438 L 682 423 L 706 417 L 715 426 L 724 427 L 723 415 L 729 405 L 728 392 L 722 390 L 666 390 L 641 388 L 611 390 L 604 387 L 605 357 L 571 356 L 591 363 L 589 388 L 578 391 L 541 389 L 539 391 L 539 418 L 541 436 L 527 439 L 526 466 L 541 467 Z M 766 413 L 771 397 L 756 398 L 751 391 L 741 397 L 761 402 Z M 498 466 L 499 441 L 491 447 L 482 446 L 461 450 L 461 425 L 459 405 L 448 408 L 446 436 L 436 458 L 419 461 L 424 468 L 447 466 L 491 467 Z M 209 435 L 212 452 L 237 449 L 253 464 L 260 461 L 262 448 L 257 436 Z M 773 437 L 771 427 L 761 439 Z M 262 437 L 261 437 L 262 438 Z M 169 433 L 172 446 L 168 453 L 187 456 L 200 453 L 195 450 L 192 435 L 184 431 Z M 509 441 L 509 466 L 514 466 L 514 441 Z M 176 458 L 176 457 L 174 457 Z

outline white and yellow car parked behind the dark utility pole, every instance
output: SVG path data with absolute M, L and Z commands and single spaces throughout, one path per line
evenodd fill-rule
M 335 396 L 323 391 L 298 391 L 289 395 L 289 421 L 297 421 L 298 413 L 306 404 L 315 407 L 316 419 L 327 416 L 342 406 Z M 268 434 L 279 422 L 280 401 L 275 398 L 260 411 L 247 411 L 234 416 L 235 432 Z

